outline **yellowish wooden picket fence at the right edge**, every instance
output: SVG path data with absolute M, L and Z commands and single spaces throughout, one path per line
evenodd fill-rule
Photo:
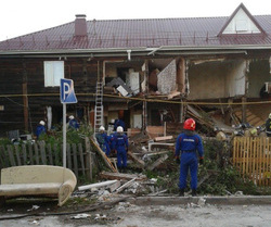
M 271 138 L 235 137 L 233 164 L 257 186 L 271 186 Z

